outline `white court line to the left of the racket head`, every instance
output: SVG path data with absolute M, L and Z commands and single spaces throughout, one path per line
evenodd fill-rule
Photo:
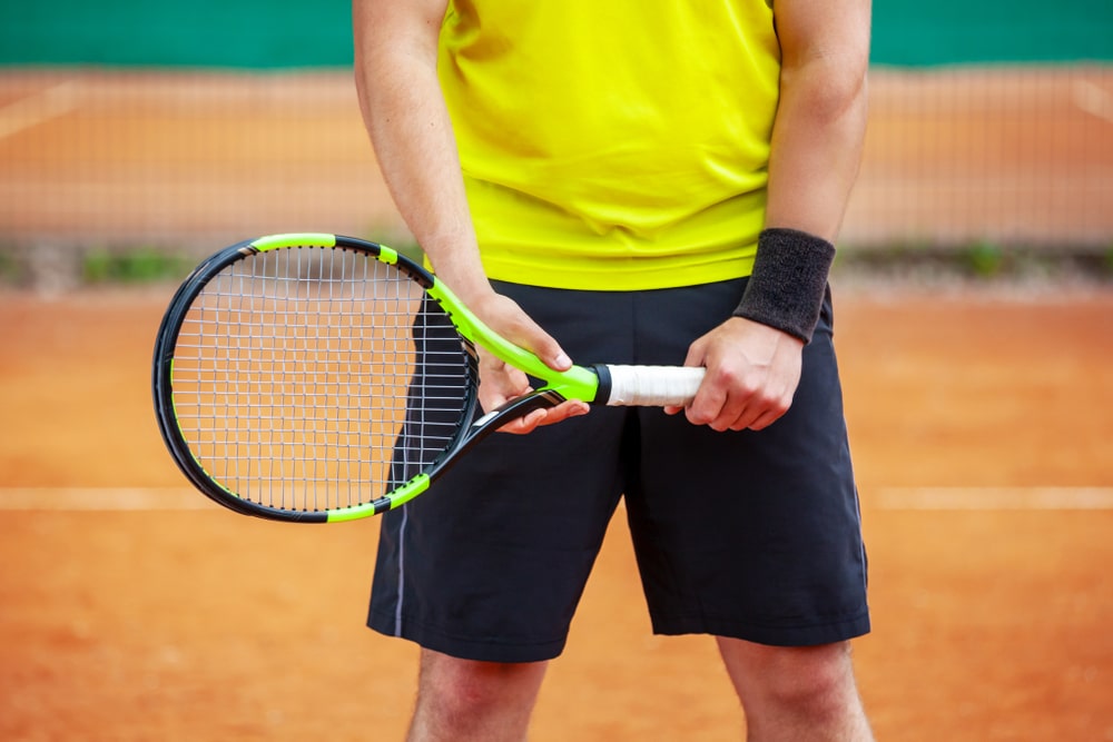
M 2 487 L 0 511 L 204 511 L 217 505 L 189 487 Z

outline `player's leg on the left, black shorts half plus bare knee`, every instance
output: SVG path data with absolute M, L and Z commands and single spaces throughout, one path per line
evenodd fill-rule
M 572 357 L 633 363 L 628 295 L 495 286 Z M 423 647 L 411 740 L 525 736 L 624 487 L 628 416 L 494 435 L 436 492 L 380 516 L 368 625 Z

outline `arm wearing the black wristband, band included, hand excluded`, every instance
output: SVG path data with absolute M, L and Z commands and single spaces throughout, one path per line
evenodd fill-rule
M 810 342 L 866 132 L 868 0 L 784 0 L 766 229 L 735 316 Z

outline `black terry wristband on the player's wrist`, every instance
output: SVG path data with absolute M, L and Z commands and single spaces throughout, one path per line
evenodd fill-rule
M 810 343 L 834 260 L 835 246 L 821 237 L 779 227 L 762 230 L 754 273 L 732 316 Z

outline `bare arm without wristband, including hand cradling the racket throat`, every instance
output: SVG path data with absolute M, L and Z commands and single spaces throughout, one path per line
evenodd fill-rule
M 556 369 L 571 360 L 560 345 L 483 271 L 452 121 L 436 75 L 446 0 L 353 0 L 355 81 L 359 109 L 395 205 L 440 279 L 495 332 Z M 480 399 L 486 409 L 529 390 L 524 374 L 480 354 Z M 504 429 L 587 412 L 565 403 L 535 410 Z

